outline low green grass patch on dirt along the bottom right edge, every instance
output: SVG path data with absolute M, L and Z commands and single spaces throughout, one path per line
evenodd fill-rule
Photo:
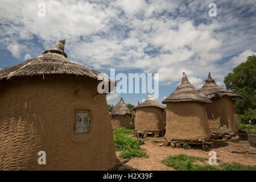
M 245 166 L 239 163 L 222 163 L 218 166 L 195 164 L 196 161 L 205 162 L 207 160 L 207 158 L 179 154 L 170 155 L 167 159 L 162 160 L 162 163 L 181 171 L 256 171 L 256 166 Z

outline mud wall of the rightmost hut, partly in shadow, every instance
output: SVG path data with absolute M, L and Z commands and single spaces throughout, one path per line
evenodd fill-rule
M 216 133 L 237 133 L 238 121 L 232 98 L 222 96 L 213 98 L 206 105 L 210 130 Z

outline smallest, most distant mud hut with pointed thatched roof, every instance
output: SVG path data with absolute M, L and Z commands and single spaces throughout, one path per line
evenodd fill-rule
M 121 97 L 117 105 L 114 106 L 110 113 L 112 117 L 112 127 L 113 129 L 118 129 L 119 127 L 130 127 L 131 124 L 131 111 L 126 106 L 123 98 Z

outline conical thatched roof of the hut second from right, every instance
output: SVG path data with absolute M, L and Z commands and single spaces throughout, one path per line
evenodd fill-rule
M 165 100 L 163 100 L 163 104 L 167 104 L 167 102 L 183 102 L 183 101 L 198 101 L 211 103 L 207 97 L 201 94 L 195 86 L 191 85 L 188 81 L 187 75 L 183 73 L 182 81 L 180 85 L 174 90 L 170 96 L 168 96 Z

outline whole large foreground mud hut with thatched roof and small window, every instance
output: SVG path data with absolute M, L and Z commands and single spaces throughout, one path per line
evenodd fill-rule
M 60 40 L 0 71 L 0 170 L 106 170 L 117 164 L 100 72 L 73 63 Z M 46 165 L 39 164 L 39 151 Z

